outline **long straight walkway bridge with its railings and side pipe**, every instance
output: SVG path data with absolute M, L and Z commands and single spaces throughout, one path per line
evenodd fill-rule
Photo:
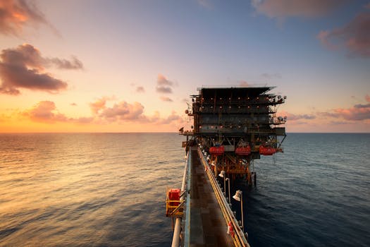
M 172 246 L 247 246 L 249 243 L 230 209 L 206 157 L 191 147 L 180 201 L 183 217 L 175 222 Z

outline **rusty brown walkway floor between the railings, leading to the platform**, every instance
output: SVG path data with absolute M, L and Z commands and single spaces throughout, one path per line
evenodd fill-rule
M 204 172 L 197 150 L 192 150 L 190 192 L 190 246 L 233 246 L 227 224 L 211 183 Z

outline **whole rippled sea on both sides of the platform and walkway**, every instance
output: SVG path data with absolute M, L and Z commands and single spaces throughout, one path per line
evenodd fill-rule
M 0 246 L 169 246 L 175 133 L 0 134 Z M 370 134 L 289 134 L 242 188 L 255 246 L 370 246 Z M 233 202 L 238 211 L 240 204 Z M 240 216 L 240 212 L 238 212 Z

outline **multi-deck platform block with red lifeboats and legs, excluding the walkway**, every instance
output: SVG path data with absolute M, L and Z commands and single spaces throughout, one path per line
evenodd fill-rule
M 278 116 L 285 96 L 269 93 L 274 87 L 198 88 L 186 110 L 194 124 L 187 145 L 197 143 L 206 154 L 215 176 L 245 177 L 249 184 L 256 174 L 250 168 L 261 155 L 283 152 L 286 116 Z

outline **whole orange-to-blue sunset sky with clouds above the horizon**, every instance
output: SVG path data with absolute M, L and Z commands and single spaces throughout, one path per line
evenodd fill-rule
M 370 132 L 370 1 L 0 0 L 0 132 L 190 126 L 203 85 L 269 85 L 287 132 Z

